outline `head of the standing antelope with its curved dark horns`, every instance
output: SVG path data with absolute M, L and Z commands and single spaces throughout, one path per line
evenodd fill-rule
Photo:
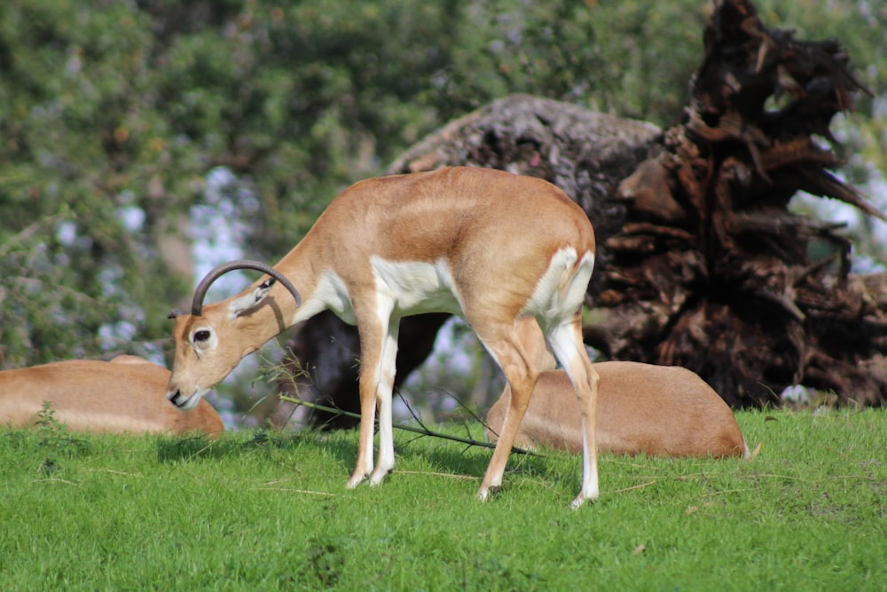
M 204 307 L 203 299 L 213 282 L 236 269 L 254 269 L 271 277 L 238 296 Z M 167 386 L 167 399 L 176 407 L 183 410 L 197 407 L 203 395 L 221 383 L 240 359 L 288 326 L 289 323 L 281 320 L 279 303 L 268 298 L 277 282 L 294 296 L 296 307 L 302 304 L 293 284 L 271 265 L 238 260 L 219 265 L 200 280 L 194 291 L 191 314 L 169 313 L 169 318 L 176 320 L 173 329 L 176 357 Z M 270 312 L 263 314 L 265 308 Z M 271 322 L 268 321 L 270 318 Z M 276 331 L 268 335 L 270 325 Z

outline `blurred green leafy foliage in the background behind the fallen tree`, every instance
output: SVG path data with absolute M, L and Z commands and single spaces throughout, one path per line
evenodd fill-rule
M 880 4 L 756 4 L 773 26 L 840 38 L 883 97 Z M 341 188 L 507 93 L 675 122 L 710 11 L 698 0 L 4 2 L 0 367 L 159 351 L 194 281 L 169 241 L 191 240 L 187 216 L 215 167 L 259 204 L 235 201 L 247 254 L 275 260 Z M 884 112 L 863 100 L 852 119 L 854 179 L 885 168 Z

